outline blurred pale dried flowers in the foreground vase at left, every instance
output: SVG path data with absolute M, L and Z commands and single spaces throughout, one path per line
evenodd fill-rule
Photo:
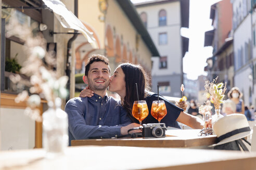
M 33 26 L 31 26 L 33 27 Z M 22 79 L 20 75 L 11 75 L 9 78 L 16 84 L 16 87 L 28 86 L 29 92 L 33 95 L 29 96 L 27 90 L 23 90 L 15 99 L 15 102 L 27 101 L 25 115 L 30 116 L 36 121 L 42 121 L 38 106 L 41 98 L 45 98 L 48 105 L 55 108 L 57 97 L 65 98 L 68 94 L 66 83 L 67 76 L 57 76 L 52 69 L 56 63 L 51 52 L 46 52 L 46 41 L 42 35 L 33 36 L 28 26 L 20 25 L 15 18 L 11 18 L 6 26 L 6 36 L 17 36 L 24 40 L 24 51 L 28 55 L 27 60 L 23 63 L 20 73 L 30 77 L 30 80 Z

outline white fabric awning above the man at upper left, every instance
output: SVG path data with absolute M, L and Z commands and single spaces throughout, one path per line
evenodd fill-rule
M 61 23 L 61 25 L 67 29 L 74 29 L 80 31 L 93 48 L 98 48 L 96 40 L 93 37 L 93 33 L 89 32 L 83 23 L 70 11 L 67 9 L 65 4 L 59 0 L 42 0 L 45 5 L 52 9 L 55 16 Z

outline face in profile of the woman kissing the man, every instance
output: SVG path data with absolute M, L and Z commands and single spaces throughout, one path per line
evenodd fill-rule
M 125 80 L 122 68 L 119 66 L 114 70 L 114 74 L 109 80 L 109 91 L 118 93 L 121 97 L 125 96 Z

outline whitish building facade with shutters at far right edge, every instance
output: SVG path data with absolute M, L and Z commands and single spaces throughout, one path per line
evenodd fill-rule
M 234 84 L 244 94 L 245 105 L 255 105 L 255 12 L 252 1 L 231 1 L 234 32 Z M 252 12 L 252 13 L 251 13 Z

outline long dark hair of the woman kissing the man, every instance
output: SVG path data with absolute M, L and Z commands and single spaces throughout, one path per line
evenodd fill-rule
M 149 91 L 149 78 L 145 73 L 144 69 L 140 65 L 134 65 L 130 63 L 123 63 L 120 64 L 120 67 L 123 70 L 125 75 L 125 97 L 123 98 L 122 105 L 131 118 L 136 122 L 136 119 L 132 116 L 132 108 L 134 101 L 137 100 L 144 100 L 146 97 L 145 91 Z M 138 97 L 137 97 L 137 90 L 136 85 L 138 85 Z

